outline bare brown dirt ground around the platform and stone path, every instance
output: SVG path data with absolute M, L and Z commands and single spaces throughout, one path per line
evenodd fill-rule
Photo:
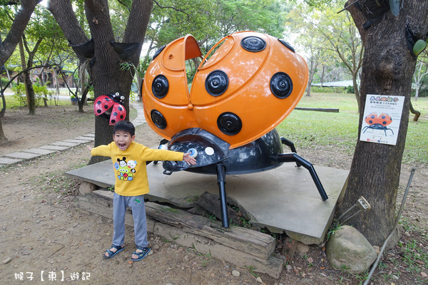
M 8 110 L 2 118 L 9 141 L 0 156 L 50 142 L 93 133 L 93 113 L 76 107 Z M 290 138 L 292 139 L 292 138 Z M 160 138 L 147 125 L 138 126 L 136 140 L 156 145 Z M 316 165 L 349 170 L 351 155 L 332 147 L 297 151 Z M 126 228 L 126 249 L 113 259 L 102 254 L 111 245 L 112 220 L 75 206 L 78 181 L 63 173 L 86 165 L 85 145 L 0 168 L 0 284 L 362 284 L 365 274 L 348 274 L 331 266 L 324 247 L 296 252 L 279 279 L 240 268 L 227 261 L 180 247 L 149 234 L 153 254 L 130 262 L 133 229 Z M 428 167 L 417 165 L 402 214 L 402 247 L 384 252 L 372 284 L 428 284 Z M 402 166 L 399 201 L 410 165 Z M 277 249 L 282 240 L 278 237 Z M 412 249 L 412 250 L 411 250 Z M 232 271 L 240 276 L 233 276 Z M 257 277 L 260 277 L 257 280 Z

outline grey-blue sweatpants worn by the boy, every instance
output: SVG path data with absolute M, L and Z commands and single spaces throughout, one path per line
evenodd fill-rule
M 134 220 L 134 232 L 137 247 L 147 247 L 147 222 L 146 207 L 144 207 L 144 195 L 121 196 L 114 193 L 113 196 L 113 244 L 121 246 L 125 242 L 125 213 L 126 207 L 130 207 Z

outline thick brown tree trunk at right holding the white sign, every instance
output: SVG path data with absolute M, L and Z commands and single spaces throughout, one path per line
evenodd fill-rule
M 362 2 L 367 4 L 368 1 L 357 2 L 363 7 Z M 348 1 L 345 6 L 351 3 L 352 1 Z M 362 27 L 367 19 L 360 9 L 352 5 L 348 11 L 365 45 L 360 88 L 361 103 L 365 103 L 367 94 L 405 97 L 397 144 L 357 141 L 345 196 L 337 207 L 340 216 L 355 204 L 358 197 L 365 197 L 372 205 L 372 209 L 370 212 L 360 214 L 351 222 L 371 244 L 381 246 L 395 222 L 399 175 L 409 123 L 412 76 L 416 66 L 416 59 L 407 48 L 406 27 L 412 28 L 412 31 L 421 38 L 427 35 L 428 1 L 402 1 L 399 16 L 394 17 L 388 10 L 381 21 L 367 29 Z M 359 133 L 364 119 L 364 109 L 362 105 Z

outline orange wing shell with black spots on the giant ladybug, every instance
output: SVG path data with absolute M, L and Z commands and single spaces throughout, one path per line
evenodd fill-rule
M 144 79 L 146 118 L 163 138 L 170 140 L 187 128 L 202 128 L 228 142 L 230 148 L 240 147 L 281 123 L 305 91 L 305 60 L 283 40 L 245 31 L 226 36 L 208 52 L 189 93 L 184 58 L 190 58 L 190 51 L 199 51 L 192 39 L 186 36 L 165 46 Z M 172 65 L 168 61 L 172 62 L 175 53 L 183 61 L 180 75 L 165 68 Z M 157 76 L 175 86 L 163 98 L 154 94 Z

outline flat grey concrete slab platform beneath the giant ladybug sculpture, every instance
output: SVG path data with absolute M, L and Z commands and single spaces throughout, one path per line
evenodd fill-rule
M 147 167 L 151 201 L 169 202 L 178 207 L 189 206 L 189 200 L 208 191 L 218 195 L 217 177 L 191 172 L 163 175 L 160 164 Z M 329 199 L 322 201 L 310 173 L 294 163 L 285 163 L 275 170 L 249 175 L 228 175 L 228 202 L 234 200 L 252 218 L 251 222 L 271 232 L 285 232 L 305 244 L 319 244 L 325 238 L 334 214 L 337 198 L 347 179 L 347 170 L 315 166 Z M 85 180 L 100 187 L 114 184 L 111 160 L 71 170 L 69 177 Z M 231 203 L 233 204 L 233 203 Z

